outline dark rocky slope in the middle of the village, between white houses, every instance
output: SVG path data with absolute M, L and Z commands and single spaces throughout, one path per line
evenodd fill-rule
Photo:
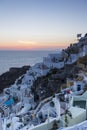
M 66 79 L 73 79 L 79 72 L 76 63 L 66 65 L 62 69 L 53 69 L 46 76 L 38 77 L 32 86 L 35 101 L 43 100 L 60 92 L 61 86 L 66 84 Z M 38 97 L 38 98 L 37 98 Z

